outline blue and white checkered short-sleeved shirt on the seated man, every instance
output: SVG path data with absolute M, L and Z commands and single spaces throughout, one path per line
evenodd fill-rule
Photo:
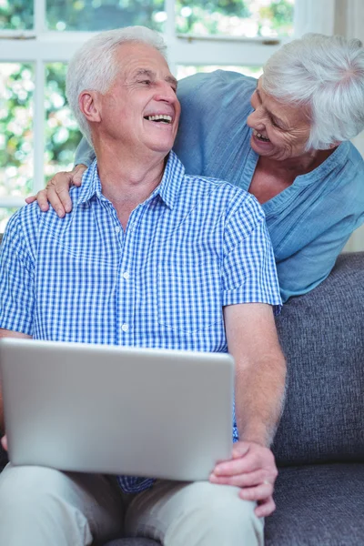
M 101 193 L 96 161 L 71 197 L 63 219 L 36 205 L 10 219 L 0 254 L 0 328 L 35 339 L 226 352 L 224 306 L 280 306 L 257 200 L 220 180 L 186 176 L 173 152 L 125 232 Z M 153 483 L 118 480 L 126 492 Z

